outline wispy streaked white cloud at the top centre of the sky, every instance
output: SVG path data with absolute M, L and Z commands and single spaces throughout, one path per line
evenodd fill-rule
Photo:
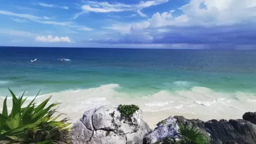
M 86 5 L 82 5 L 82 12 L 74 15 L 72 19 L 76 19 L 83 13 L 88 11 L 94 13 L 110 13 L 110 12 L 122 12 L 122 11 L 137 11 L 139 15 L 142 17 L 146 17 L 144 13 L 141 12 L 142 9 L 146 7 L 152 7 L 154 5 L 160 5 L 162 3 L 167 3 L 169 0 L 152 0 L 152 1 L 140 1 L 135 5 L 126 5 L 124 3 L 108 3 L 104 2 L 96 2 L 96 1 L 84 1 Z

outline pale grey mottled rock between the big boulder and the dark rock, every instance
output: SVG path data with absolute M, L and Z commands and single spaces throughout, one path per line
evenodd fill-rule
M 144 144 L 152 144 L 162 140 L 164 137 L 178 137 L 179 126 L 174 117 L 168 117 L 158 123 L 156 129 L 144 137 Z

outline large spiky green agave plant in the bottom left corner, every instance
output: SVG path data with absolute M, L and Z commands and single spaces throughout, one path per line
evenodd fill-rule
M 70 123 L 64 118 L 57 120 L 62 114 L 53 117 L 59 103 L 47 107 L 50 98 L 36 106 L 35 98 L 25 107 L 27 98 L 19 98 L 9 89 L 13 99 L 11 113 L 7 111 L 7 98 L 3 101 L 3 111 L 0 113 L 0 143 L 68 143 Z M 40 92 L 40 91 L 39 91 Z

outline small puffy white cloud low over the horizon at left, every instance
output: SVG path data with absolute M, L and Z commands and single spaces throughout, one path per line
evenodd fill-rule
M 51 35 L 48 35 L 48 36 L 37 36 L 35 38 L 36 41 L 39 41 L 39 42 L 71 42 L 71 40 L 68 38 L 68 36 L 66 37 L 58 37 L 58 36 L 51 36 Z

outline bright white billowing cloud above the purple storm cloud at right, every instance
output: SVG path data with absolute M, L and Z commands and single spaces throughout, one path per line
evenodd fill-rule
M 162 1 L 163 2 L 163 1 Z M 200 7 L 200 5 L 204 7 Z M 152 5 L 152 2 L 144 3 L 144 7 Z M 122 25 L 126 25 L 126 32 L 129 30 L 145 30 L 165 26 L 215 26 L 234 25 L 238 23 L 256 23 L 256 1 L 255 0 L 191 0 L 190 3 L 179 8 L 184 14 L 174 17 L 174 10 L 164 13 L 155 13 L 147 21 L 138 23 L 117 24 L 108 27 L 114 31 L 123 32 Z M 166 29 L 159 28 L 159 32 Z

